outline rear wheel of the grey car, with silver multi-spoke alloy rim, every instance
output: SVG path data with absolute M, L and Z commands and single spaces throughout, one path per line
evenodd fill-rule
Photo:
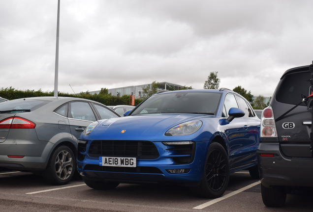
M 68 146 L 57 147 L 43 171 L 43 178 L 53 185 L 65 185 L 72 180 L 76 170 L 76 159 Z

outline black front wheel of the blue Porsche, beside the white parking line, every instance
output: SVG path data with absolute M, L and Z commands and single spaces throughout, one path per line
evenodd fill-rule
M 211 143 L 204 165 L 204 172 L 199 186 L 191 191 L 205 198 L 220 197 L 229 181 L 229 161 L 225 149 L 219 143 Z

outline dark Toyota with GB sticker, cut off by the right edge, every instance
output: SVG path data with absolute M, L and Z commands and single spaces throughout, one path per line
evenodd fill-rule
M 268 207 L 281 207 L 287 193 L 313 187 L 312 91 L 312 65 L 289 69 L 262 111 L 257 155 Z

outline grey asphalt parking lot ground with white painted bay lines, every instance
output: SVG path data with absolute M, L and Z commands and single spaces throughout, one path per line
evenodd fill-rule
M 258 180 L 249 172 L 234 173 L 218 199 L 193 196 L 175 185 L 121 184 L 94 190 L 76 179 L 68 185 L 47 185 L 41 176 L 0 173 L 0 211 L 6 212 L 312 212 L 313 192 L 288 195 L 283 208 L 263 205 Z

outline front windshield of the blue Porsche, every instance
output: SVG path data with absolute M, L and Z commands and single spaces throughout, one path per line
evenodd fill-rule
M 201 113 L 216 114 L 220 93 L 176 92 L 153 95 L 131 113 Z

